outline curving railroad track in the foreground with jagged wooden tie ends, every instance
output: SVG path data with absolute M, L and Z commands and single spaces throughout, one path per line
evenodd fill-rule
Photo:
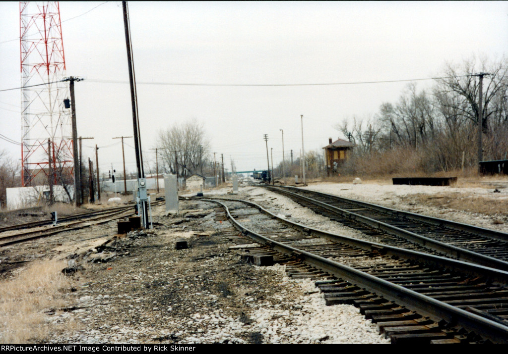
M 247 201 L 197 199 L 224 208 L 238 247 L 319 279 L 329 305 L 356 305 L 392 343 L 508 342 L 508 272 L 334 235 Z

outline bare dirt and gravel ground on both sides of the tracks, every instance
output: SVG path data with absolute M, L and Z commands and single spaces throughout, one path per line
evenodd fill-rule
M 507 196 L 504 185 L 496 187 L 499 192 L 490 185 L 412 187 L 364 183 L 307 188 L 506 231 L 505 209 L 497 203 Z M 274 199 L 271 192 L 253 187 L 241 188 L 235 197 L 247 194 L 302 222 L 315 218 L 297 206 L 289 208 L 283 198 Z M 448 201 L 460 198 L 485 198 L 499 206 L 489 211 L 479 210 L 475 203 Z M 31 335 L 20 341 L 387 342 L 354 307 L 324 306 L 312 281 L 288 278 L 278 265 L 241 263 L 240 251 L 231 248 L 227 237 L 235 231 L 215 216 L 211 203 L 186 200 L 180 202 L 178 215 L 166 215 L 163 206 L 155 208 L 154 229 L 147 233 L 116 238 L 116 222 L 110 222 L 0 248 L 0 286 L 18 277 L 34 260 L 63 259 L 68 265 L 83 268 L 68 277 L 70 286 L 55 290 L 58 304 L 63 301 L 64 305 L 38 309 L 43 316 L 36 326 L 47 331 L 41 334 L 28 328 Z M 176 250 L 177 239 L 187 240 L 190 248 Z M 104 247 L 105 243 L 109 247 Z M 6 342 L 2 338 L 0 329 L 0 342 Z

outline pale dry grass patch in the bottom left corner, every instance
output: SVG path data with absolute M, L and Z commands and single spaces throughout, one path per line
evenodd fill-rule
M 72 280 L 61 273 L 65 267 L 64 261 L 34 262 L 0 283 L 0 343 L 37 343 L 49 333 L 78 327 L 72 320 L 48 323 L 44 314 L 45 309 L 66 305 L 61 291 L 69 289 Z

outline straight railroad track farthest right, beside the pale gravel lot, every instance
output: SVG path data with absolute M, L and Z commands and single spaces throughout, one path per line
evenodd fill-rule
M 293 187 L 266 187 L 382 243 L 508 270 L 508 234 Z M 428 252 L 428 251 L 427 251 Z

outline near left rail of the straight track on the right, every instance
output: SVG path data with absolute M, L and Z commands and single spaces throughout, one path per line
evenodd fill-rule
M 321 202 L 319 200 L 315 200 L 309 197 L 305 197 L 303 195 L 299 195 L 287 190 L 280 190 L 278 188 L 273 187 L 266 187 L 270 190 L 276 190 L 280 193 L 290 195 L 294 198 L 298 198 L 304 201 L 307 201 L 308 203 L 318 205 L 324 209 L 330 210 L 333 213 L 345 216 L 346 218 L 357 220 L 361 223 L 367 224 L 369 226 L 372 226 L 373 228 L 383 230 L 389 234 L 396 235 L 399 237 L 403 237 L 405 239 L 411 240 L 417 244 L 420 244 L 421 246 L 424 246 L 426 248 L 442 252 L 444 254 L 449 255 L 450 257 L 455 257 L 459 260 L 465 261 L 465 262 L 472 262 L 476 264 L 485 265 L 487 267 L 491 268 L 497 268 L 501 270 L 508 270 L 508 262 L 496 259 L 494 257 L 486 256 L 479 254 L 477 252 L 469 251 L 466 249 L 463 249 L 461 247 L 457 247 L 445 242 L 437 241 L 432 238 L 422 236 L 419 234 L 416 234 L 411 231 L 407 231 L 401 228 L 398 228 L 396 226 L 365 217 L 363 215 L 353 213 L 353 211 L 348 211 L 345 209 L 338 208 L 336 206 Z M 327 195 L 328 196 L 328 195 Z M 373 204 L 372 204 L 373 205 Z

